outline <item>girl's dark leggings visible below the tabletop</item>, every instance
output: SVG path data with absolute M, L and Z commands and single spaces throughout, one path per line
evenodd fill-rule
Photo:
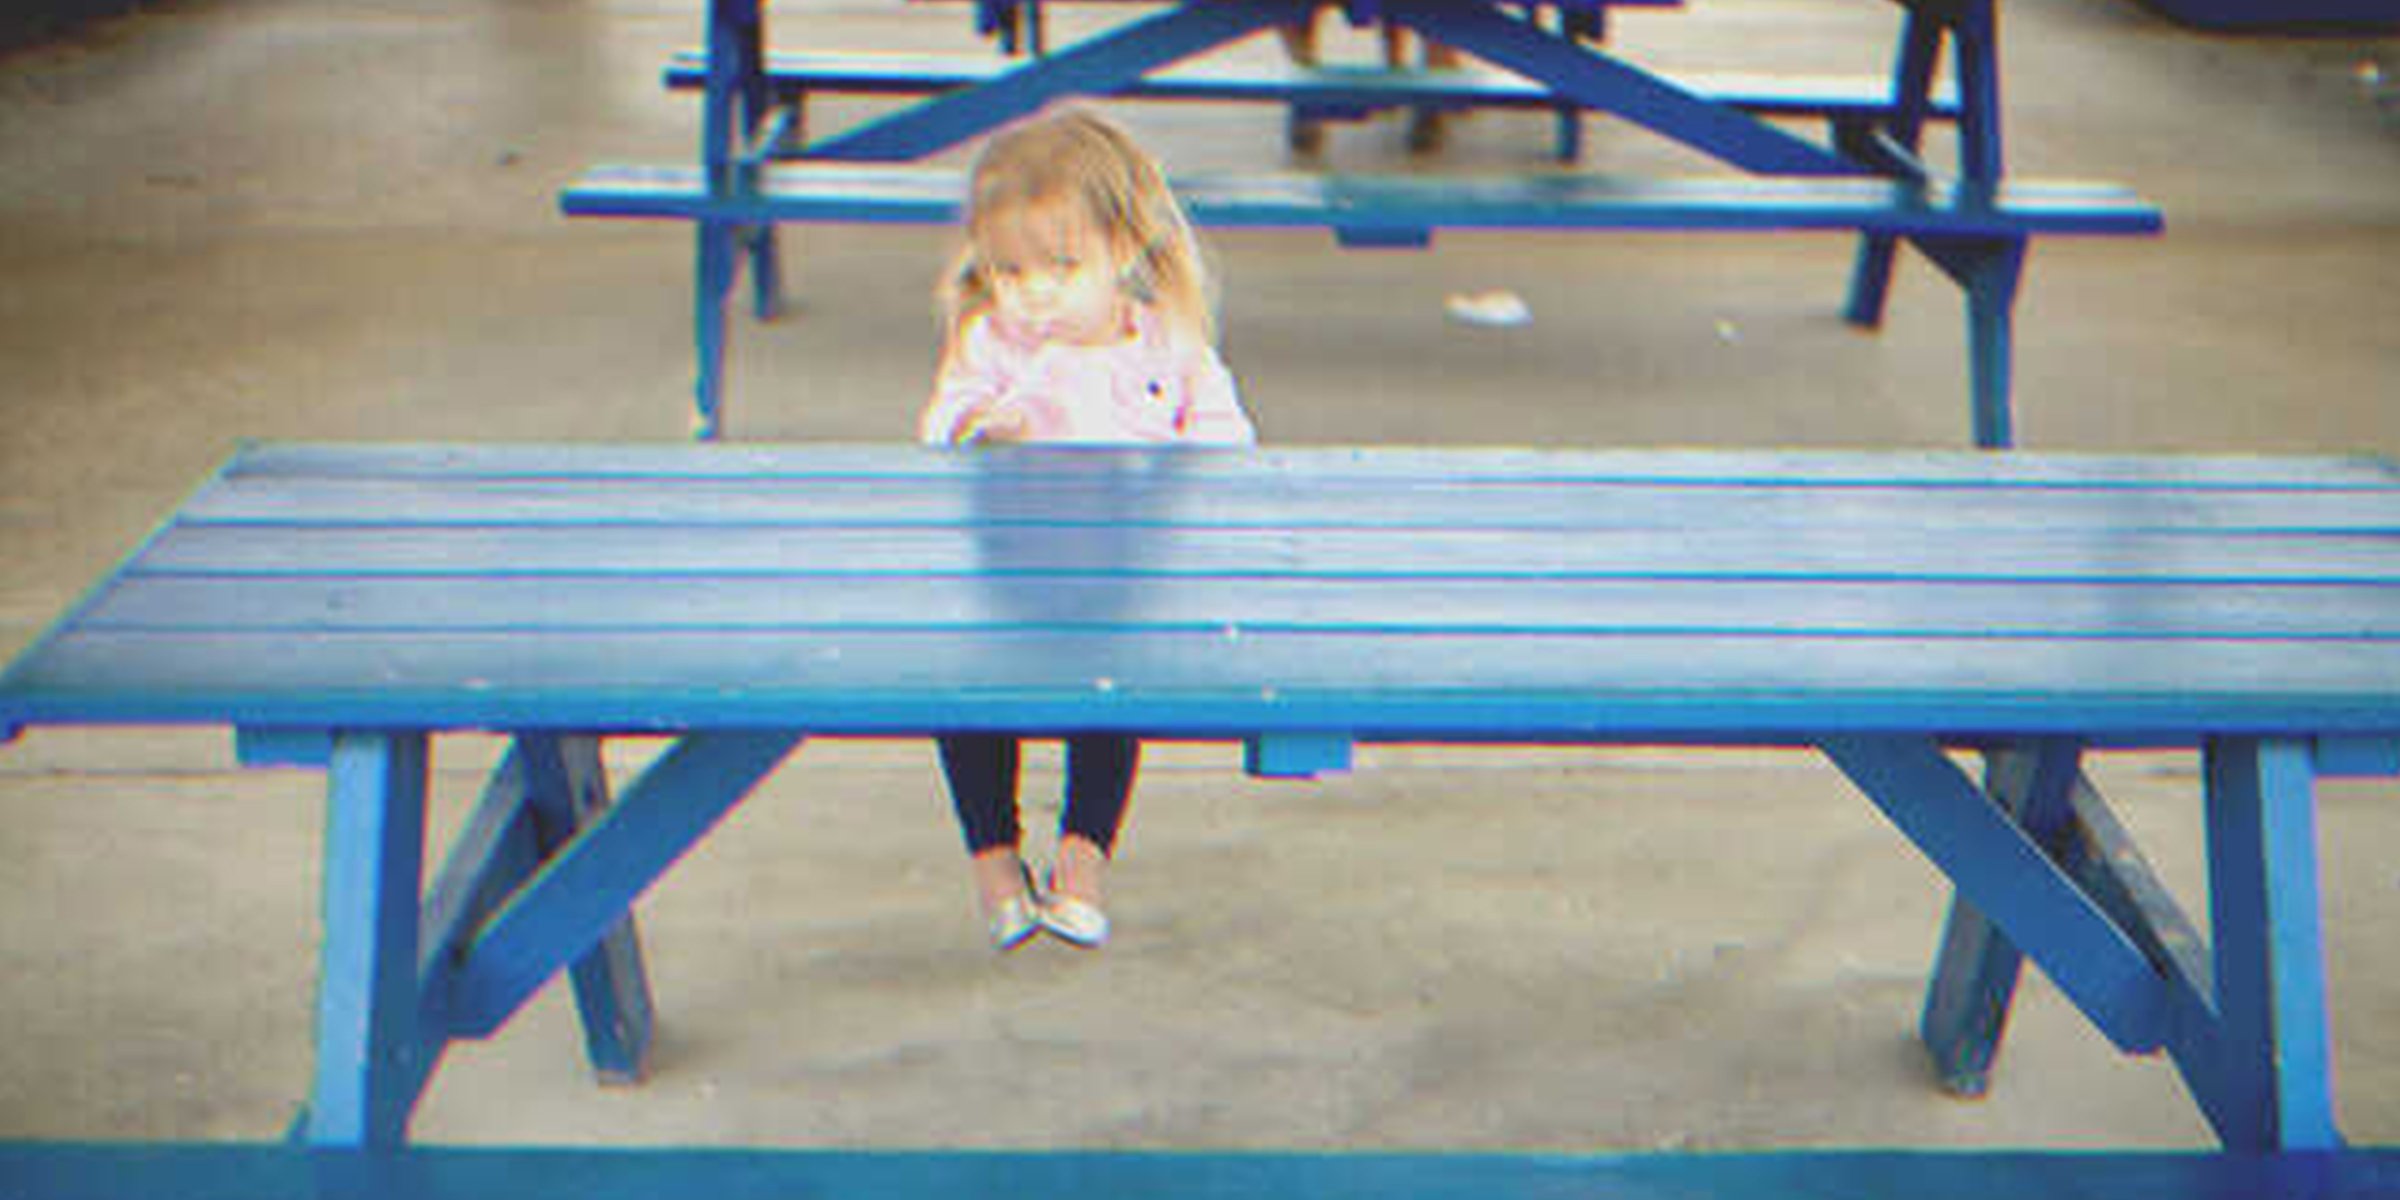
M 1018 845 L 1018 766 L 1022 742 L 1010 734 L 938 737 L 941 773 L 950 778 L 950 804 L 967 835 L 967 854 Z M 1090 838 L 1102 854 L 1116 852 L 1116 830 L 1133 799 L 1133 773 L 1142 744 L 1126 734 L 1075 734 L 1066 739 L 1066 814 L 1058 835 Z

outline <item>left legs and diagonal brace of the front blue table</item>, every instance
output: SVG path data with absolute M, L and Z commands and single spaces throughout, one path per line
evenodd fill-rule
M 799 734 L 691 734 L 610 804 L 600 739 L 523 734 L 420 898 L 430 739 L 334 734 L 317 1082 L 295 1138 L 398 1147 L 444 1049 L 571 967 L 602 1082 L 643 1073 L 653 1006 L 631 905 Z

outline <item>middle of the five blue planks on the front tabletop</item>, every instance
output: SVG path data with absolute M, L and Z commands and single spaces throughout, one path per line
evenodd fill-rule
M 636 583 L 648 578 L 718 581 L 742 586 L 756 578 L 845 574 L 859 583 L 895 574 L 967 574 L 986 566 L 986 538 L 955 528 L 814 528 L 794 538 L 790 526 L 638 526 L 590 528 L 562 545 L 542 528 L 288 528 L 262 538 L 257 528 L 190 526 L 158 542 L 144 559 L 142 588 L 233 583 L 245 576 L 305 581 L 350 578 L 410 588 L 437 581 L 482 578 L 490 586 L 533 588 L 545 581 Z M 1152 578 L 1210 578 L 1219 571 L 1284 554 L 1306 564 L 1294 581 L 1356 581 L 1385 576 L 1423 578 L 1426 562 L 1445 562 L 1462 581 L 1694 581 L 1742 574 L 1752 581 L 1922 581 L 1922 583 L 2182 583 L 2189 588 L 2261 586 L 2292 588 L 2321 581 L 2328 588 L 2400 583 L 2400 542 L 2388 538 L 2210 538 L 2179 530 L 1975 530 L 1975 554 L 1920 528 L 1889 528 L 1862 538 L 1855 528 L 1769 526 L 1716 530 L 1706 542 L 1668 545 L 1642 528 L 1586 528 L 1555 538 L 1546 557 L 1531 559 L 1526 540 L 1476 530 L 1402 528 L 1178 528 L 1142 574 Z M 998 533 L 994 533 L 998 538 Z M 1075 576 L 1109 566 L 1109 554 L 1090 542 L 1013 538 L 1010 564 L 1020 574 Z M 506 564 L 506 566 L 499 566 Z M 619 593 L 629 600 L 638 593 Z M 2201 598 L 2194 598 L 2201 600 Z M 110 598 L 134 602 L 132 588 Z M 353 607 L 358 600 L 346 600 Z M 329 617 L 331 619 L 331 617 Z

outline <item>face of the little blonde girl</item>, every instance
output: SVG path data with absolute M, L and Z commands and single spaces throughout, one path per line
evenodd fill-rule
M 1116 247 L 1075 204 L 1034 204 L 994 221 L 982 269 L 1001 317 L 1044 341 L 1106 346 L 1126 336 Z

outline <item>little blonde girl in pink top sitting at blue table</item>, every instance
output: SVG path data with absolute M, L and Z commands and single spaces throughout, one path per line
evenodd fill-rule
M 943 278 L 929 444 L 1250 444 L 1217 358 L 1207 274 L 1159 163 L 1087 110 L 1030 118 L 974 161 L 967 247 Z M 941 766 L 991 943 L 1109 938 L 1102 878 L 1133 794 L 1130 734 L 1066 739 L 1066 814 L 1046 888 L 1018 850 L 1020 742 L 950 734 Z

